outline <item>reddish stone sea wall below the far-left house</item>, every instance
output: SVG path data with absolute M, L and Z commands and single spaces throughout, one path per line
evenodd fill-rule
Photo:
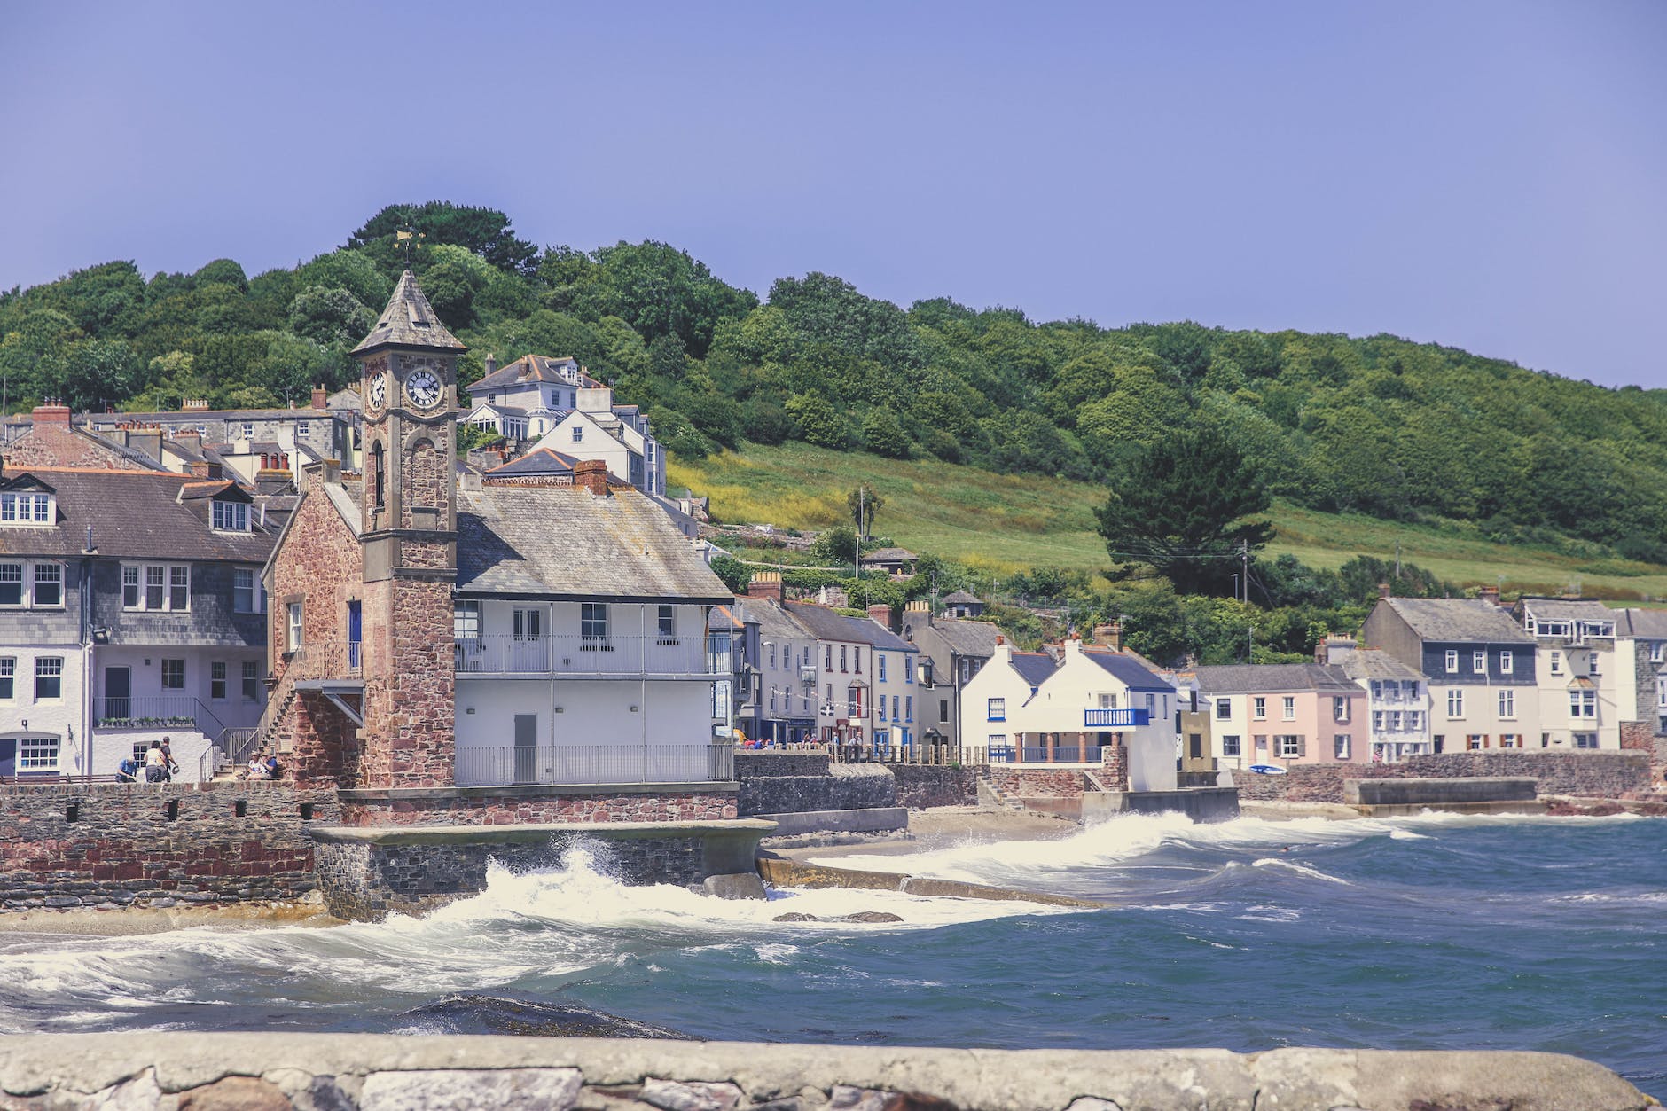
M 0 786 L 0 906 L 293 899 L 307 827 L 338 817 L 333 789 L 282 782 Z

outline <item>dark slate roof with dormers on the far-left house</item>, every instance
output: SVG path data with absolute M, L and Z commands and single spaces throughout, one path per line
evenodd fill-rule
M 210 502 L 215 494 L 248 504 L 235 482 L 203 482 L 157 470 L 35 467 L 7 475 L 7 487 L 28 489 L 28 479 L 57 495 L 52 525 L 0 525 L 0 554 L 75 557 L 93 545 L 102 557 L 235 561 L 262 564 L 277 539 L 275 522 L 260 524 L 250 505 L 250 532 L 215 532 Z M 38 487 L 35 487 L 38 489 Z

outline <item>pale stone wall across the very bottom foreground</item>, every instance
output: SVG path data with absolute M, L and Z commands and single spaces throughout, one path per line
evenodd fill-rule
M 123 1111 L 1644 1111 L 1549 1053 L 999 1051 L 385 1034 L 27 1034 L 7 1108 Z

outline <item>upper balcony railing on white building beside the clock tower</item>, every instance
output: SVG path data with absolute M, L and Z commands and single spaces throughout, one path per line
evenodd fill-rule
M 458 676 L 642 679 L 718 674 L 702 637 L 487 634 L 457 639 L 455 656 Z

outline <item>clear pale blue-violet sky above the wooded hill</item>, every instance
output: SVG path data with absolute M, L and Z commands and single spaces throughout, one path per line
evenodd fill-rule
M 0 287 L 383 204 L 1667 385 L 1667 3 L 18 3 Z

